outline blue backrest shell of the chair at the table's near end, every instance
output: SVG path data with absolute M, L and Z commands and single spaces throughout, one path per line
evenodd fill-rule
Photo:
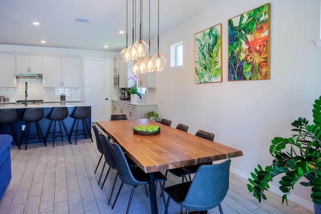
M 209 210 L 224 199 L 229 189 L 231 160 L 220 164 L 202 165 L 197 170 L 189 191 L 181 202 L 192 210 Z

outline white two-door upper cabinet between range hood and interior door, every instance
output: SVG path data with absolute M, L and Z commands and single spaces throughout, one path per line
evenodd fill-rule
M 80 59 L 67 57 L 43 57 L 45 88 L 80 87 Z

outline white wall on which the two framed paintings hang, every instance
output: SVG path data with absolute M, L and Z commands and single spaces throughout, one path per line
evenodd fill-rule
M 228 20 L 267 3 L 271 3 L 270 80 L 228 82 Z M 188 125 L 193 134 L 198 129 L 213 132 L 216 142 L 242 150 L 242 157 L 232 159 L 231 171 L 248 178 L 258 163 L 271 163 L 272 138 L 290 137 L 290 123 L 298 117 L 312 119 L 312 104 L 321 95 L 321 48 L 313 43 L 319 37 L 319 22 L 319 0 L 231 0 L 161 32 L 159 52 L 168 60 L 170 46 L 183 41 L 184 69 L 170 71 L 168 61 L 165 71 L 157 73 L 159 116 L 172 120 L 173 127 Z M 194 35 L 219 23 L 223 82 L 195 84 Z M 309 187 L 297 184 L 290 199 L 312 209 L 309 195 Z

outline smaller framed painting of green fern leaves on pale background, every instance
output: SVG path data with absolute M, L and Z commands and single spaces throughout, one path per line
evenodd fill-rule
M 195 83 L 222 82 L 222 24 L 195 34 Z

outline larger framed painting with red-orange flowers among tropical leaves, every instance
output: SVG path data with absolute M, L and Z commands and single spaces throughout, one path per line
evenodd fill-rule
M 270 4 L 232 18 L 228 80 L 270 79 Z

